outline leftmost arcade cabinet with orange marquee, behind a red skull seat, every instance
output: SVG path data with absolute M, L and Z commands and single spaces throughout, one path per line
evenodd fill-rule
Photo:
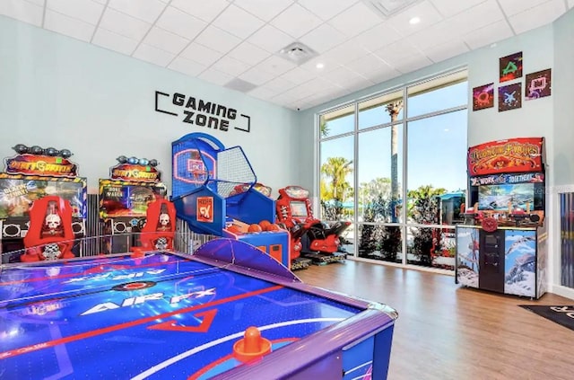
M 65 199 L 72 211 L 72 252 L 82 254 L 87 217 L 87 181 L 78 176 L 78 166 L 67 149 L 53 147 L 13 147 L 17 155 L 6 158 L 5 172 L 0 173 L 0 230 L 3 262 L 20 261 L 24 237 L 30 228 L 30 207 L 47 196 Z

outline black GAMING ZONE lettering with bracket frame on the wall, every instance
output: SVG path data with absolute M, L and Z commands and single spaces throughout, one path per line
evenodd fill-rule
M 231 107 L 183 93 L 155 92 L 155 110 L 182 118 L 184 123 L 224 132 L 237 129 L 251 131 L 251 117 Z

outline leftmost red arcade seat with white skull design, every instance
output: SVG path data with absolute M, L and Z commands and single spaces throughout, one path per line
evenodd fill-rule
M 24 236 L 26 252 L 21 261 L 74 258 L 74 229 L 70 202 L 55 195 L 34 201 L 30 208 L 30 228 Z

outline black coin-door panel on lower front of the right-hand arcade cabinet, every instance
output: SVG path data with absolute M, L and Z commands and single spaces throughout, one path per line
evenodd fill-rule
M 504 292 L 504 231 L 480 231 L 478 287 Z

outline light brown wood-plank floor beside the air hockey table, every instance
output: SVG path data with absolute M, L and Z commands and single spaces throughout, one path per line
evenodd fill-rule
M 574 331 L 517 305 L 574 305 L 483 292 L 454 277 L 361 261 L 311 266 L 310 285 L 378 301 L 398 312 L 390 380 L 574 379 Z

